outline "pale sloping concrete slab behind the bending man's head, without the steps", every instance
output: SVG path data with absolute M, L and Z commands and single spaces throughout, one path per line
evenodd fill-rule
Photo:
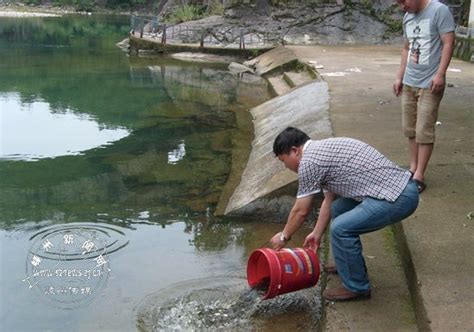
M 273 155 L 273 141 L 288 126 L 297 127 L 314 139 L 332 136 L 327 83 L 310 82 L 253 108 L 251 114 L 255 127 L 252 150 L 224 214 L 287 214 L 292 200 L 275 193 L 283 194 L 297 176 Z

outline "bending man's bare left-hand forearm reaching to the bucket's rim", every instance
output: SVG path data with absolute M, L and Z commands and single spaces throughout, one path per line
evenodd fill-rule
M 306 217 L 311 211 L 312 202 L 313 195 L 296 199 L 295 204 L 288 215 L 285 228 L 283 229 L 283 235 L 286 239 L 289 239 L 304 223 Z M 275 250 L 283 248 L 286 244 L 286 241 L 280 240 L 280 235 L 281 233 L 277 233 L 270 240 L 273 249 Z

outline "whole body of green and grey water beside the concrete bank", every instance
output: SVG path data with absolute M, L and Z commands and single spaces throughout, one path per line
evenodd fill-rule
M 246 286 L 250 252 L 282 226 L 214 217 L 265 82 L 128 57 L 128 30 L 0 18 L 1 329 L 314 327 L 316 291 L 262 302 Z

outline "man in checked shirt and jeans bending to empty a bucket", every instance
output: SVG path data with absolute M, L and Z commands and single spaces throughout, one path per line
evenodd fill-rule
M 317 250 L 331 223 L 335 270 L 342 285 L 325 290 L 330 301 L 370 297 L 360 235 L 399 222 L 418 206 L 418 190 L 404 170 L 370 145 L 351 138 L 312 141 L 288 127 L 275 139 L 273 152 L 285 167 L 298 173 L 298 194 L 282 232 L 270 242 L 283 248 L 305 221 L 313 196 L 324 193 L 314 230 L 304 246 Z M 335 272 L 335 271 L 334 271 Z

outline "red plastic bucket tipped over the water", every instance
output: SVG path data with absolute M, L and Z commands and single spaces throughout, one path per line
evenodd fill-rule
M 265 291 L 263 299 L 312 287 L 319 280 L 319 259 L 311 249 L 257 249 L 247 263 L 247 282 Z

